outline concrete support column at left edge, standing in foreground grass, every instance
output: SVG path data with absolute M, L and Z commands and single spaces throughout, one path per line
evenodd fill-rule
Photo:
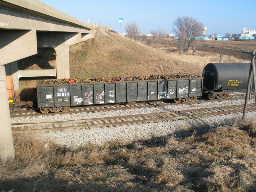
M 0 159 L 13 159 L 14 147 L 4 66 L 0 66 L 0 98 L 2 101 L 0 116 Z

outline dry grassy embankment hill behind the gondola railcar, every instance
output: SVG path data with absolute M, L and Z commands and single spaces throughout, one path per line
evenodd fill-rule
M 115 33 L 96 37 L 69 48 L 70 77 L 112 77 L 190 73 L 202 75 L 204 66 L 218 62 L 218 55 L 179 55 L 151 48 Z M 236 62 L 227 57 L 223 62 Z

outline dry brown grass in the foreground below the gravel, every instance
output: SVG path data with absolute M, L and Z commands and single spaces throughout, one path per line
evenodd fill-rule
M 16 136 L 16 159 L 0 162 L 0 190 L 252 192 L 255 126 L 188 126 L 126 146 L 88 144 L 76 150 Z

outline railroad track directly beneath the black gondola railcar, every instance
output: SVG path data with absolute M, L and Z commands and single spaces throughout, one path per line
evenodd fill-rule
M 220 99 L 220 100 L 204 100 L 199 99 L 195 102 L 186 102 L 186 103 L 163 103 L 163 102 L 144 102 L 144 103 L 129 103 L 124 105 L 98 105 L 98 106 L 83 106 L 83 107 L 73 107 L 70 108 L 68 112 L 58 112 L 58 113 L 37 113 L 35 110 L 30 111 L 20 111 L 16 112 L 15 115 L 11 117 L 27 117 L 27 116 L 47 116 L 47 115 L 56 115 L 56 114 L 64 114 L 64 113 L 81 113 L 81 112 L 98 112 L 98 111 L 111 111 L 111 110 L 124 110 L 124 109 L 131 109 L 131 108 L 148 108 L 148 107 L 163 107 L 166 105 L 181 105 L 181 104 L 191 104 L 191 103 L 203 103 L 203 102 L 212 102 L 212 101 L 222 101 L 222 100 L 238 100 L 244 99 L 245 94 L 233 94 L 229 95 L 228 99 Z M 160 103 L 160 104 L 159 104 Z

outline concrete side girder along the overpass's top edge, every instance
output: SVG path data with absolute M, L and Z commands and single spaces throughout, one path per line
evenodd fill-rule
M 0 28 L 82 33 L 90 33 L 92 29 L 88 24 L 42 2 L 26 1 L 0 0 Z

